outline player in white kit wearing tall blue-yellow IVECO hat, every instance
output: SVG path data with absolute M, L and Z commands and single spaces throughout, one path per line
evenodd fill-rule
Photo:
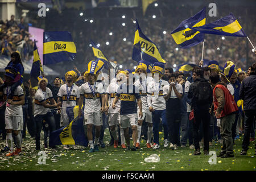
M 100 82 L 96 82 L 97 76 L 103 68 L 103 61 L 90 61 L 88 63 L 88 73 L 85 74 L 87 82 L 80 86 L 79 117 L 82 115 L 81 109 L 85 98 L 84 123 L 87 129 L 88 142 L 90 144 L 89 152 L 98 151 L 97 144 L 100 138 L 102 125 L 101 113 L 105 111 L 104 86 Z M 92 135 L 93 125 L 95 126 L 96 130 L 94 144 Z

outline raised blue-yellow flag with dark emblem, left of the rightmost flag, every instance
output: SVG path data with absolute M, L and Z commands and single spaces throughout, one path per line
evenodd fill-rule
M 183 20 L 180 25 L 171 32 L 172 38 L 181 48 L 196 46 L 204 41 L 204 34 L 195 31 L 192 27 L 199 27 L 205 24 L 205 7 L 191 18 Z

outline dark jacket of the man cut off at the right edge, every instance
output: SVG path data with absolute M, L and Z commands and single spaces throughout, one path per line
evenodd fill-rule
M 256 73 L 242 81 L 239 98 L 243 100 L 243 110 L 256 109 Z

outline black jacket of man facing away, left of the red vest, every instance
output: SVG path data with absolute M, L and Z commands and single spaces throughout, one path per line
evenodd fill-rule
M 200 84 L 202 83 L 202 84 Z M 199 102 L 197 102 L 195 95 L 197 93 L 196 90 L 200 89 L 203 90 L 203 88 L 201 88 L 201 85 L 207 85 L 207 92 L 204 93 L 204 95 L 207 95 L 207 97 L 209 98 L 207 100 L 207 102 L 204 102 L 204 104 L 201 104 Z M 188 90 L 188 98 L 192 99 L 192 109 L 194 110 L 209 110 L 210 106 L 212 105 L 212 101 L 213 101 L 213 97 L 212 97 L 212 86 L 210 86 L 210 83 L 205 80 L 204 77 L 201 78 L 197 78 L 189 87 Z

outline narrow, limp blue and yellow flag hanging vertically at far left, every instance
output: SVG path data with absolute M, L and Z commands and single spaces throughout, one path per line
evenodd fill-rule
M 32 63 L 32 68 L 30 71 L 31 76 L 31 87 L 36 89 L 36 86 L 38 86 L 38 76 L 42 75 L 43 67 L 41 64 L 41 60 L 38 53 L 38 48 L 36 47 L 36 42 L 34 40 L 34 59 Z

